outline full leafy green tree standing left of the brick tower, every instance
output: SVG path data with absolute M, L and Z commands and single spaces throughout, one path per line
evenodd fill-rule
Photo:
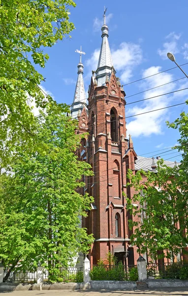
M 38 138 L 45 151 L 23 151 L 22 162 L 18 159 L 11 174 L 1 176 L 0 258 L 7 268 L 42 264 L 56 280 L 58 268 L 71 263 L 77 252 L 86 254 L 93 242 L 93 235 L 79 225 L 93 202 L 79 193 L 84 186 L 80 180 L 93 173 L 75 154 L 81 140 L 76 126 L 61 112 L 41 114 Z

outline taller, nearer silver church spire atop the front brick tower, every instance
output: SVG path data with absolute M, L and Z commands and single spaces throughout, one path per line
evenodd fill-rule
M 104 25 L 101 28 L 102 44 L 100 48 L 100 55 L 96 70 L 97 86 L 105 85 L 106 75 L 110 75 L 113 66 L 110 47 L 108 43 L 108 26 L 106 25 L 106 10 L 107 8 L 105 9 L 104 7 Z

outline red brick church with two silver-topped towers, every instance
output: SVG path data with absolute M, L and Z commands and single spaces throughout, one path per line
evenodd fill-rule
M 131 136 L 126 135 L 125 90 L 113 67 L 108 43 L 108 26 L 101 28 L 102 43 L 96 71 L 93 71 L 85 97 L 83 64 L 78 64 L 78 79 L 72 117 L 79 121 L 79 133 L 88 132 L 88 139 L 82 140 L 79 158 L 91 164 L 94 177 L 84 180 L 84 190 L 94 197 L 92 210 L 82 221 L 88 233 L 94 234 L 94 244 L 89 254 L 92 264 L 105 259 L 110 251 L 119 260 L 132 265 L 138 259 L 136 247 L 130 245 L 131 231 L 126 211 L 125 198 L 131 197 L 132 188 L 126 188 L 128 169 L 155 170 L 155 160 L 137 156 Z M 157 160 L 156 160 L 157 162 Z M 165 161 L 167 165 L 173 162 Z M 146 255 L 143 254 L 146 258 Z

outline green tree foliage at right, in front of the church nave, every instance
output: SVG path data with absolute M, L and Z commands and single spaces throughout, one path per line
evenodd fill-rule
M 185 253 L 188 246 L 188 114 L 182 112 L 175 122 L 167 124 L 179 129 L 180 145 L 176 148 L 183 151 L 181 163 L 171 168 L 161 159 L 157 173 L 128 172 L 128 185 L 135 189 L 133 199 L 127 199 L 127 208 L 134 217 L 129 221 L 133 227 L 131 241 L 153 259 Z M 145 183 L 143 176 L 147 178 Z M 135 207 L 135 203 L 140 206 Z

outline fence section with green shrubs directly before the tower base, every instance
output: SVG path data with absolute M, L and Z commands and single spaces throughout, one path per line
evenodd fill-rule
M 94 281 L 137 281 L 138 270 L 137 265 L 98 264 L 93 265 L 90 276 Z

